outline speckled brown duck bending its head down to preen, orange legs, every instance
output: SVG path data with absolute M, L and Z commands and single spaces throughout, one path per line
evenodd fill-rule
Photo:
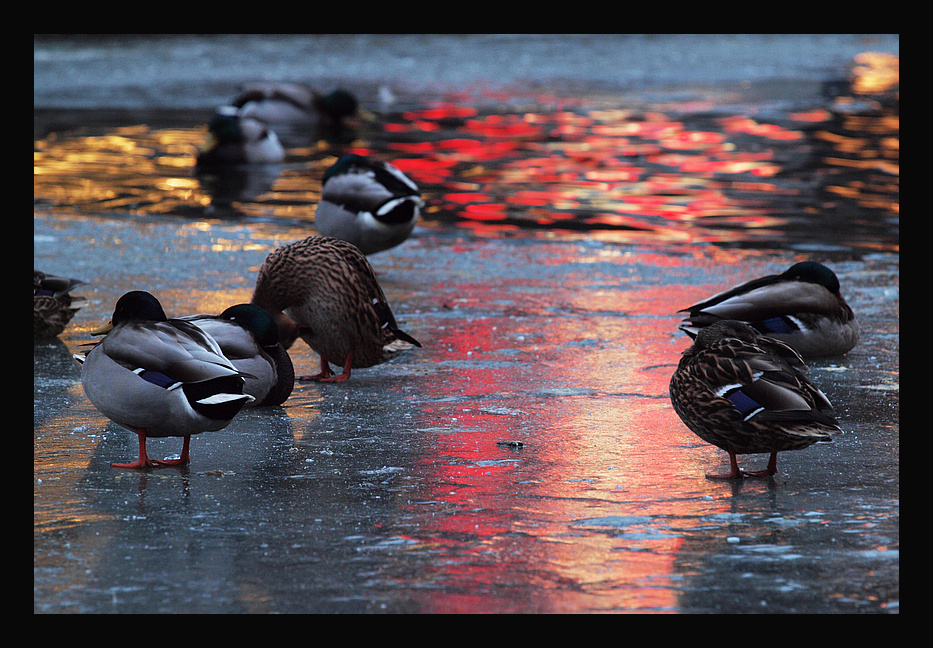
M 399 330 L 376 274 L 355 246 L 311 236 L 274 250 L 263 262 L 252 303 L 279 324 L 282 345 L 297 337 L 321 356 L 321 372 L 299 380 L 344 382 L 352 368 L 385 362 L 421 344 Z M 330 364 L 343 367 L 334 376 Z

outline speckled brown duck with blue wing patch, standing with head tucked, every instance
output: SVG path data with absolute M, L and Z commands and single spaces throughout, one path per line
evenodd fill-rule
M 806 365 L 779 340 L 743 322 L 700 329 L 671 377 L 674 411 L 697 436 L 729 453 L 734 479 L 777 472 L 777 453 L 831 441 L 839 432 L 832 405 L 798 369 Z M 770 452 L 762 471 L 739 470 L 735 456 Z

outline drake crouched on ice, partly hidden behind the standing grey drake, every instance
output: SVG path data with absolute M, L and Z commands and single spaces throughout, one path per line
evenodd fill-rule
M 237 304 L 220 315 L 190 315 L 191 322 L 220 346 L 224 356 L 244 374 L 243 391 L 255 400 L 247 406 L 281 405 L 295 385 L 291 358 L 279 344 L 279 327 L 255 304 Z

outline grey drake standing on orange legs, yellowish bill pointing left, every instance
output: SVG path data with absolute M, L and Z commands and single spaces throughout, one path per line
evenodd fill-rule
M 116 468 L 186 465 L 192 434 L 220 430 L 253 397 L 244 375 L 200 328 L 168 319 L 147 292 L 117 301 L 107 332 L 82 363 L 84 393 L 101 413 L 139 436 L 139 460 Z M 150 460 L 147 437 L 184 437 L 179 459 Z

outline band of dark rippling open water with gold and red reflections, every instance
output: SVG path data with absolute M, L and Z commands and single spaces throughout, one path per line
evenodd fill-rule
M 892 251 L 899 61 L 853 63 L 808 105 L 762 114 L 714 100 L 630 108 L 595 94 L 447 94 L 344 133 L 280 132 L 284 164 L 222 175 L 195 172 L 203 123 L 124 115 L 36 140 L 36 209 L 313 223 L 324 170 L 353 151 L 419 183 L 428 228 Z

